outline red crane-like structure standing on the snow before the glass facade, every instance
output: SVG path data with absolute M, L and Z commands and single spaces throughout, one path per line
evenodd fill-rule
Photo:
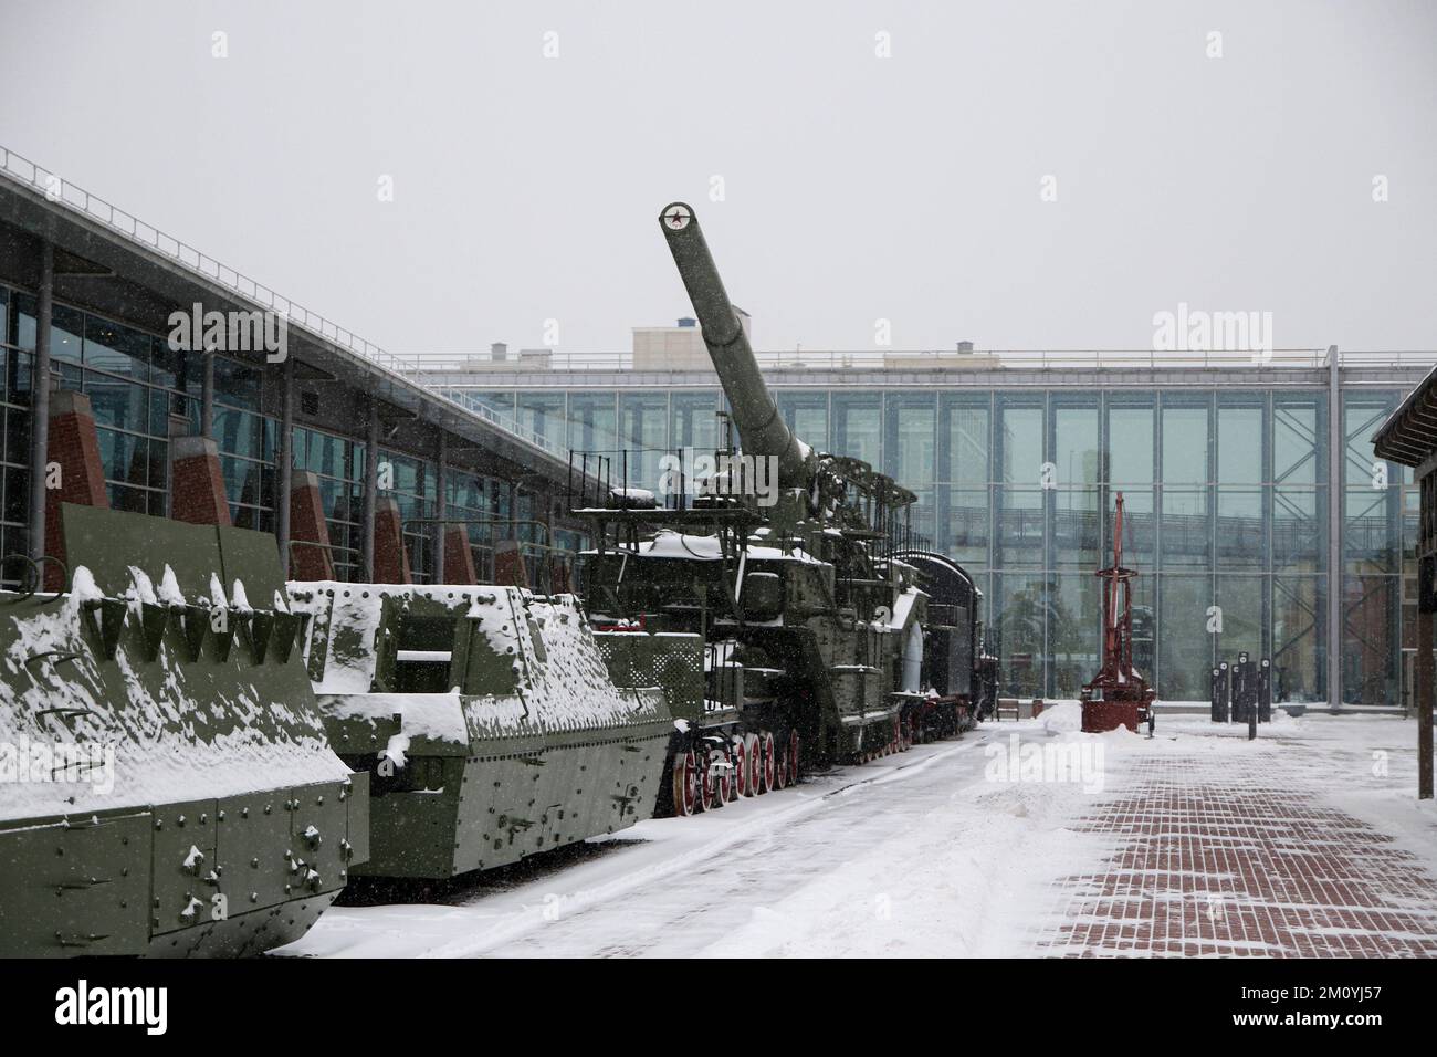
M 1132 667 L 1132 578 L 1122 565 L 1122 492 L 1112 519 L 1112 565 L 1098 569 L 1102 580 L 1102 669 L 1082 687 L 1082 729 L 1089 733 L 1137 731 L 1152 725 L 1157 690 Z

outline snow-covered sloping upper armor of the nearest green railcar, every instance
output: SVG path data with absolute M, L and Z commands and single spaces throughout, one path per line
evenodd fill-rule
M 114 660 L 82 630 L 82 605 L 103 595 L 88 568 L 50 601 L 0 607 L 0 772 L 6 818 L 144 808 L 262 790 L 343 781 L 299 651 L 254 664 L 236 641 L 224 662 L 190 662 L 171 624 L 154 660 L 138 647 L 134 616 Z M 126 592 L 157 598 L 144 574 Z M 171 618 L 174 620 L 174 618 Z M 53 767 L 32 765 L 39 754 Z M 9 759 L 7 759 L 9 756 Z M 39 774 L 32 774 L 39 771 Z

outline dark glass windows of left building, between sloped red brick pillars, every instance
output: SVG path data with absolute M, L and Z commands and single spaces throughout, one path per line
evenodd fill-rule
M 0 391 L 0 554 L 6 555 L 26 551 L 34 314 L 33 293 L 0 283 L 0 362 L 4 368 Z M 111 506 L 168 516 L 170 439 L 200 429 L 198 355 L 171 351 L 161 334 L 56 302 L 50 324 L 50 360 L 59 388 L 89 397 Z M 236 525 L 264 532 L 274 531 L 279 439 L 279 418 L 264 408 L 277 407 L 279 400 L 269 387 L 280 383 L 277 371 L 216 355 L 213 433 L 230 515 Z M 341 580 L 355 578 L 364 440 L 296 424 L 293 466 L 316 475 L 336 575 Z M 421 454 L 381 447 L 379 466 L 388 467 L 385 492 L 398 502 L 405 521 L 414 580 L 430 582 L 434 538 L 431 531 L 411 522 L 435 515 L 435 463 Z M 512 508 L 514 516 L 532 516 L 532 493 L 523 488 L 512 489 L 499 477 L 450 466 L 445 488 L 448 518 L 503 521 L 510 518 Z M 468 534 L 481 581 L 491 578 L 494 539 L 507 536 L 507 528 L 471 525 Z M 556 532 L 556 536 L 559 544 L 576 546 L 579 542 L 573 534 Z M 4 582 L 17 582 L 22 572 L 17 562 L 6 564 Z

